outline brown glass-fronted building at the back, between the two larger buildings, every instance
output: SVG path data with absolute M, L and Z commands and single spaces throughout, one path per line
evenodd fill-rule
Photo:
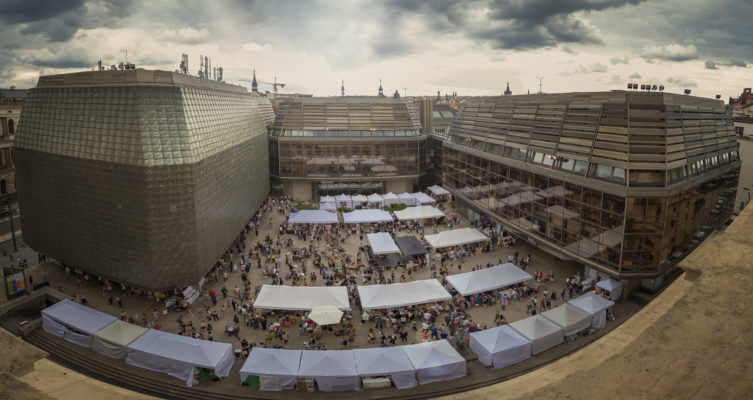
M 407 100 L 291 98 L 280 105 L 269 137 L 270 174 L 299 201 L 410 192 L 426 173 L 426 146 Z

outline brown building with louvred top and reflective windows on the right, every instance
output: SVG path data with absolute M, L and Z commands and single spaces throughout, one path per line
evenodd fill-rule
M 648 288 L 729 218 L 740 170 L 721 101 L 625 91 L 469 99 L 442 164 L 471 220 Z

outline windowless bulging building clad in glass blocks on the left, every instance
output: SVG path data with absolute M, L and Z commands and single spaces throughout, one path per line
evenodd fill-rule
M 147 70 L 41 77 L 16 137 L 24 241 L 118 282 L 196 284 L 266 196 L 267 154 L 244 88 Z

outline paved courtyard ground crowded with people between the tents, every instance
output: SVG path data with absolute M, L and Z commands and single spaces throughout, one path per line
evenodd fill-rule
M 444 208 L 446 215 L 455 215 L 454 213 L 451 214 L 451 208 L 449 206 L 445 205 Z M 289 215 L 289 203 L 279 200 L 270 201 L 264 208 L 264 211 L 259 218 L 260 222 L 257 223 L 254 228 L 246 232 L 246 250 L 243 252 L 246 255 L 249 251 L 257 253 L 257 242 L 264 243 L 267 236 L 271 238 L 272 247 L 278 251 L 280 249 L 280 246 L 275 245 L 275 242 L 278 239 L 280 239 L 281 241 L 292 241 L 292 243 L 290 243 L 290 247 L 282 247 L 282 256 L 279 258 L 280 263 L 274 260 L 267 261 L 266 257 L 262 255 L 262 267 L 258 268 L 257 259 L 254 255 L 250 265 L 249 273 L 247 274 L 247 280 L 250 281 L 249 300 L 253 300 L 255 298 L 256 294 L 258 293 L 256 289 L 260 288 L 263 284 L 273 284 L 274 282 L 279 283 L 277 278 L 273 278 L 265 273 L 265 271 L 272 270 L 273 268 L 275 268 L 275 266 L 279 268 L 279 276 L 281 277 L 279 279 L 283 279 L 283 284 L 293 284 L 293 281 L 291 279 L 285 279 L 285 276 L 288 275 L 289 267 L 286 266 L 284 256 L 288 253 L 291 253 L 293 248 L 308 247 L 309 244 L 311 244 L 311 240 L 309 238 L 307 238 L 306 240 L 301 240 L 295 234 L 280 234 L 280 224 L 283 223 L 285 221 L 285 218 Z M 471 224 L 467 220 L 462 219 L 462 217 L 457 217 L 457 223 L 453 224 L 452 228 L 450 228 L 447 220 L 448 218 L 445 218 L 445 223 L 443 225 L 436 226 L 437 231 L 471 226 Z M 255 234 L 255 229 L 258 230 L 258 236 Z M 427 225 L 425 229 L 426 234 L 434 233 L 433 227 Z M 397 230 L 395 233 L 398 236 L 421 236 L 420 234 L 416 233 L 415 230 L 409 231 L 407 229 Z M 364 234 L 363 236 L 363 246 L 368 246 L 366 235 Z M 317 240 L 314 239 L 313 242 L 317 243 Z M 325 248 L 324 243 L 325 239 L 324 237 L 322 237 L 321 242 L 319 242 L 320 249 Z M 360 235 L 358 233 L 348 236 L 344 235 L 344 239 L 340 241 L 340 246 L 343 248 L 343 250 L 345 250 L 345 252 L 342 255 L 335 256 L 337 265 L 341 265 L 341 260 L 344 259 L 346 255 L 349 256 L 351 260 L 357 260 L 359 258 L 358 253 L 359 251 L 361 251 L 360 248 L 362 246 Z M 235 244 L 233 245 L 233 248 L 233 250 L 236 250 Z M 475 324 L 477 329 L 486 329 L 496 326 L 495 318 L 497 317 L 497 313 L 500 313 L 507 323 L 526 318 L 527 316 L 530 316 L 530 314 L 527 313 L 528 301 L 531 300 L 534 296 L 541 300 L 544 290 L 547 290 L 548 293 L 551 293 L 552 291 L 556 292 L 556 300 L 551 301 L 551 307 L 556 307 L 564 302 L 561 297 L 561 293 L 563 290 L 567 292 L 565 278 L 581 274 L 583 270 L 582 266 L 576 263 L 555 259 L 553 256 L 548 255 L 545 252 L 538 250 L 528 243 L 522 241 L 518 241 L 514 247 L 503 247 L 495 245 L 489 252 L 482 252 L 481 247 L 478 247 L 475 255 L 467 255 L 463 259 L 448 260 L 445 262 L 445 266 L 447 267 L 447 273 L 449 275 L 454 275 L 458 273 L 470 272 L 473 268 L 485 268 L 487 264 L 497 265 L 499 263 L 507 262 L 508 258 L 511 256 L 514 257 L 515 253 L 518 254 L 519 259 L 524 259 L 530 254 L 531 265 L 526 267 L 526 271 L 528 273 L 534 275 L 536 271 L 539 271 L 544 276 L 553 275 L 554 279 L 547 279 L 546 282 L 539 284 L 538 293 L 532 293 L 527 297 L 521 299 L 508 300 L 506 302 L 504 310 L 502 310 L 501 304 L 498 300 L 493 304 L 488 305 L 470 305 L 465 309 L 465 315 L 460 318 L 461 324 L 458 325 L 458 329 L 460 329 L 463 324 Z M 369 316 L 369 319 L 365 323 L 363 323 L 363 310 L 356 305 L 353 295 L 350 296 L 351 306 L 353 307 L 352 317 L 351 315 L 349 315 L 351 314 L 351 312 L 346 312 L 343 317 L 344 322 L 339 325 L 333 325 L 332 331 L 329 331 L 327 329 L 320 331 L 319 329 L 316 329 L 312 334 L 308 334 L 304 329 L 299 328 L 301 321 L 300 317 L 293 317 L 290 318 L 291 323 L 289 326 L 280 324 L 279 328 L 282 330 L 282 332 L 279 335 L 270 335 L 270 327 L 276 321 L 278 321 L 281 315 L 290 315 L 292 317 L 296 314 L 300 315 L 300 313 L 280 313 L 277 311 L 267 310 L 264 312 L 264 315 L 266 316 L 266 330 L 261 329 L 261 326 L 258 326 L 256 328 L 248 326 L 242 313 L 234 312 L 232 307 L 232 302 L 235 302 L 238 305 L 237 309 L 240 311 L 240 305 L 243 303 L 241 297 L 243 297 L 244 293 L 244 282 L 242 281 L 241 276 L 244 272 L 244 269 L 237 268 L 237 270 L 234 271 L 230 266 L 230 262 L 232 262 L 234 266 L 239 266 L 241 262 L 241 256 L 237 251 L 233 251 L 232 253 L 229 251 L 225 258 L 228 261 L 224 263 L 220 263 L 218 261 L 218 263 L 222 265 L 216 268 L 217 273 L 210 273 L 208 275 L 206 283 L 203 286 L 202 295 L 193 303 L 190 310 L 183 311 L 177 311 L 175 308 L 164 308 L 161 302 L 154 300 L 154 296 L 149 297 L 144 293 L 142 293 L 141 295 L 133 295 L 127 293 L 127 290 L 124 292 L 117 284 L 112 288 L 112 304 L 110 304 L 108 297 L 104 295 L 102 288 L 97 283 L 96 277 L 90 277 L 88 280 L 81 279 L 81 277 L 76 275 L 75 273 L 70 271 L 66 272 L 60 266 L 55 264 L 48 263 L 36 266 L 32 268 L 32 275 L 34 276 L 34 282 L 42 282 L 44 271 L 47 280 L 50 282 L 50 286 L 52 286 L 53 288 L 57 288 L 58 290 L 61 290 L 63 293 L 71 297 L 73 297 L 75 294 L 76 300 L 79 302 L 81 301 L 81 297 L 84 296 L 86 298 L 86 303 L 88 306 L 111 314 L 115 317 L 125 317 L 126 319 L 130 317 L 136 320 L 135 323 L 137 325 L 158 325 L 159 329 L 172 333 L 179 333 L 181 332 L 181 330 L 183 330 L 185 333 L 190 333 L 195 337 L 200 337 L 203 339 L 208 339 L 209 336 L 212 336 L 212 339 L 215 341 L 222 341 L 232 344 L 234 349 L 241 349 L 242 341 L 249 343 L 251 346 L 281 347 L 286 349 L 338 350 L 378 347 L 382 345 L 382 340 L 380 337 L 381 335 L 379 333 L 380 331 L 384 333 L 385 342 L 388 346 L 413 344 L 426 340 L 432 340 L 431 327 L 426 332 L 426 335 L 424 335 L 422 324 L 425 322 L 423 318 L 424 312 L 431 311 L 433 304 L 415 306 L 415 321 L 417 322 L 416 329 L 413 329 L 411 321 L 408 320 L 407 323 L 403 326 L 403 329 L 407 332 L 407 337 L 405 338 L 405 340 L 401 340 L 399 332 L 395 333 L 396 340 L 395 343 L 392 344 L 390 342 L 390 336 L 394 330 L 390 319 L 386 318 L 385 316 L 387 310 L 381 311 L 381 315 L 385 318 L 380 329 L 378 329 L 376 326 L 374 312 L 372 312 Z M 289 259 L 293 265 L 297 265 L 297 269 L 300 271 L 300 261 L 293 261 L 292 254 L 290 255 Z M 364 254 L 362 251 L 360 254 L 360 259 L 362 260 L 363 264 L 367 264 L 366 254 Z M 323 279 L 320 275 L 319 269 L 311 265 L 312 260 L 313 258 L 306 260 L 309 266 L 307 267 L 307 272 L 305 274 L 305 283 L 308 286 L 324 286 L 325 279 Z M 520 262 L 518 263 L 518 265 L 520 265 Z M 322 266 L 324 268 L 327 268 L 327 261 L 324 257 L 322 257 Z M 458 266 L 460 266 L 460 268 L 458 268 Z M 438 262 L 437 270 L 439 270 L 439 268 L 440 263 Z M 365 268 L 363 267 L 355 270 L 350 268 L 347 269 L 349 275 L 355 275 L 355 281 L 357 285 L 362 285 L 364 270 Z M 314 271 L 317 275 L 317 279 L 315 281 L 311 281 L 309 279 L 312 271 Z M 395 278 L 392 278 L 393 272 Z M 424 266 L 423 268 L 417 267 L 416 271 L 411 274 L 408 274 L 403 268 L 393 269 L 385 267 L 384 278 L 391 279 L 393 282 L 400 282 L 401 276 L 404 275 L 406 277 L 405 281 L 408 282 L 414 280 L 429 279 L 431 278 L 433 272 L 435 271 L 432 271 L 432 269 L 428 265 Z M 226 273 L 227 278 L 225 278 Z M 336 280 L 335 285 L 338 285 L 340 282 L 341 279 Z M 371 279 L 369 284 L 373 284 L 374 282 L 375 279 Z M 297 285 L 300 286 L 303 283 L 303 279 L 300 279 L 298 280 Z M 530 287 L 534 287 L 536 285 L 535 278 L 528 281 L 526 284 Z M 223 296 L 223 287 L 227 289 L 227 297 Z M 235 288 L 238 288 L 238 293 L 240 296 L 236 295 Z M 212 291 L 215 293 L 217 301 L 216 305 L 213 304 L 213 301 L 209 296 L 209 293 Z M 118 304 L 118 299 L 121 303 L 120 306 Z M 495 299 L 497 298 L 495 297 Z M 565 300 L 569 300 L 569 298 Z M 246 301 L 247 305 L 251 303 L 251 301 Z M 539 303 L 541 302 L 539 301 Z M 452 305 L 456 309 L 459 308 L 457 296 L 453 298 Z M 449 328 L 446 326 L 447 324 L 444 320 L 444 316 L 446 314 L 444 312 L 441 312 L 441 310 L 444 308 L 445 305 L 439 306 L 440 312 L 435 320 L 435 323 L 429 325 L 433 325 L 434 328 L 437 329 L 439 329 L 441 325 L 445 325 L 445 332 L 449 333 Z M 252 312 L 254 311 L 252 307 L 248 307 L 248 309 Z M 406 309 L 411 310 L 412 307 L 406 307 Z M 167 311 L 165 312 L 165 310 Z M 207 310 L 209 310 L 209 312 Z M 537 305 L 536 310 L 537 312 L 541 312 L 539 305 Z M 208 316 L 211 312 L 217 312 L 217 316 Z M 256 310 L 256 313 L 258 312 L 259 310 Z M 306 313 L 304 312 L 303 315 L 305 314 Z M 238 322 L 234 320 L 236 315 L 238 316 Z M 181 328 L 179 320 L 181 321 L 183 328 Z M 397 320 L 399 321 L 399 316 L 397 317 Z M 208 332 L 209 324 L 211 324 L 213 328 L 211 333 Z M 262 324 L 260 323 L 258 325 Z M 193 329 L 191 329 L 191 326 L 193 327 Z M 225 328 L 227 326 L 240 328 L 237 338 L 234 333 L 232 335 L 227 334 L 227 332 L 225 331 Z M 350 331 L 346 330 L 346 332 L 349 334 L 336 336 L 335 333 L 341 328 L 350 328 Z M 370 331 L 372 332 L 372 335 L 369 334 Z M 448 336 L 450 339 L 452 339 L 452 336 Z M 314 337 L 315 340 L 312 341 L 311 337 Z M 347 343 L 344 342 L 345 338 L 348 339 Z M 285 339 L 287 339 L 287 344 L 285 343 Z M 467 350 L 463 351 L 463 354 L 472 356 L 472 354 L 470 352 L 467 352 Z M 240 365 L 242 365 L 243 361 L 244 358 L 242 356 L 236 360 L 236 366 L 235 368 L 233 368 L 231 376 L 227 380 L 233 383 L 237 382 L 237 371 Z

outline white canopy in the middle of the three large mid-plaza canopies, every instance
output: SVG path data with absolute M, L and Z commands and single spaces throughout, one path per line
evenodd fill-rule
M 364 310 L 404 307 L 452 299 L 452 296 L 436 279 L 358 286 L 358 295 Z

